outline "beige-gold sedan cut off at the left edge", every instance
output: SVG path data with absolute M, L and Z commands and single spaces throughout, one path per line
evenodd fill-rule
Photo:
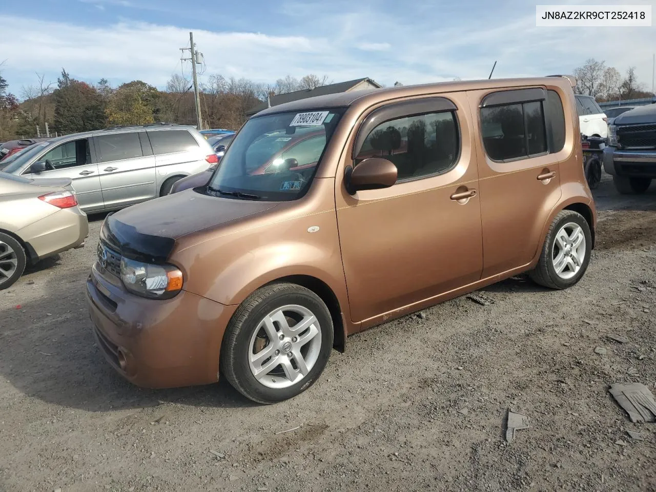
M 0 290 L 15 283 L 27 264 L 83 247 L 88 235 L 72 180 L 0 173 Z

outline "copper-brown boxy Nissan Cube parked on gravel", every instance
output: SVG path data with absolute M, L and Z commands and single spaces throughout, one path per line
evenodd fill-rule
M 98 346 L 135 384 L 220 375 L 274 403 L 312 386 L 351 333 L 522 272 L 574 285 L 596 211 L 573 83 L 403 86 L 258 113 L 207 186 L 106 218 L 87 281 Z M 314 133 L 323 143 L 260 172 L 275 142 Z

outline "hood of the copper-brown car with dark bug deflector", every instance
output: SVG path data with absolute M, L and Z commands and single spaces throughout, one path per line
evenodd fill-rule
M 180 237 L 226 226 L 277 205 L 277 202 L 218 198 L 186 190 L 108 215 L 100 239 L 127 258 L 165 262 Z

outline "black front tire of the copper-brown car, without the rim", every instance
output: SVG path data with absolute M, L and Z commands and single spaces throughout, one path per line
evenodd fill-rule
M 321 346 L 314 366 L 296 384 L 270 388 L 255 378 L 248 354 L 253 353 L 251 338 L 262 319 L 277 308 L 295 304 L 314 314 L 319 323 Z M 277 342 L 277 340 L 276 340 Z M 268 343 L 266 342 L 267 346 Z M 333 348 L 333 320 L 323 300 L 314 292 L 293 283 L 266 285 L 246 298 L 230 319 L 223 337 L 220 355 L 221 374 L 243 396 L 257 403 L 277 403 L 293 398 L 308 389 L 323 372 Z

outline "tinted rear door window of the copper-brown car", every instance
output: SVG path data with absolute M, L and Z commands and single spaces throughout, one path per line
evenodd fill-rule
M 485 152 L 506 161 L 546 152 L 541 101 L 481 108 Z

